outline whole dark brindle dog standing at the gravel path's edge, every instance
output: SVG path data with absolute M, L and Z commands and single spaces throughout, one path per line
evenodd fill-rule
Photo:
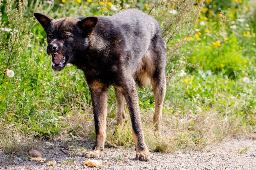
M 107 96 L 114 86 L 117 102 L 117 125 L 123 125 L 127 102 L 135 141 L 136 159 L 149 160 L 139 114 L 136 82 L 153 85 L 155 95 L 154 124 L 161 122 L 161 109 L 166 92 L 166 44 L 158 22 L 139 10 L 126 10 L 111 17 L 76 17 L 54 20 L 46 15 L 34 16 L 47 33 L 49 55 L 66 56 L 64 64 L 55 65 L 55 71 L 71 63 L 83 70 L 88 83 L 95 119 L 96 142 L 93 150 L 84 153 L 97 158 L 104 150 Z M 55 54 L 53 54 L 54 57 Z M 54 63 L 54 58 L 52 59 Z M 56 64 L 56 63 L 55 63 Z

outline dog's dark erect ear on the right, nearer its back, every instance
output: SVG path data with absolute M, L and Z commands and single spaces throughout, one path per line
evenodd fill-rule
M 78 21 L 77 26 L 82 30 L 83 35 L 88 35 L 96 27 L 97 22 L 97 17 L 86 17 L 83 20 Z

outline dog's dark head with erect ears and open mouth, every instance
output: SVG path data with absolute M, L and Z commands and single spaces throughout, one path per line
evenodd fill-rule
M 52 55 L 52 68 L 55 71 L 75 62 L 76 55 L 89 46 L 88 36 L 98 22 L 97 17 L 55 20 L 41 13 L 34 13 L 34 16 L 47 34 L 47 54 Z

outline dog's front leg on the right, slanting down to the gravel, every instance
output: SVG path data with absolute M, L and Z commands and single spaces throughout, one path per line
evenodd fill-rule
M 136 159 L 143 161 L 150 160 L 150 152 L 148 152 L 144 141 L 139 113 L 138 93 L 134 80 L 130 80 L 130 82 L 123 88 L 132 123 L 132 136 L 135 142 Z

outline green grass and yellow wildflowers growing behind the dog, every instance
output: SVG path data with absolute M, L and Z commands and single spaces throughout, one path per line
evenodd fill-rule
M 71 154 L 76 155 L 80 146 L 75 139 L 90 139 L 84 147 L 91 147 L 95 140 L 90 92 L 83 73 L 75 67 L 68 65 L 61 72 L 51 69 L 45 33 L 32 13 L 40 11 L 54 18 L 113 15 L 127 5 L 116 1 L 118 11 L 114 11 L 111 4 L 99 1 L 19 2 L 0 0 L 0 148 L 8 154 L 23 155 L 40 147 L 41 138 L 65 136 L 68 139 L 62 145 L 73 145 Z M 229 135 L 254 136 L 251 132 L 255 131 L 256 113 L 256 45 L 252 43 L 256 40 L 252 17 L 256 13 L 255 2 L 134 2 L 129 0 L 127 4 L 147 13 L 151 11 L 158 19 L 168 47 L 167 92 L 160 134 L 153 130 L 152 89 L 138 88 L 149 150 L 200 150 Z M 177 15 L 172 14 L 173 10 Z M 232 29 L 234 25 L 237 29 Z M 12 31 L 4 31 L 6 28 Z M 6 75 L 7 69 L 14 70 L 13 78 Z M 106 146 L 133 148 L 129 115 L 123 130 L 117 128 L 113 135 L 115 117 L 111 87 Z

